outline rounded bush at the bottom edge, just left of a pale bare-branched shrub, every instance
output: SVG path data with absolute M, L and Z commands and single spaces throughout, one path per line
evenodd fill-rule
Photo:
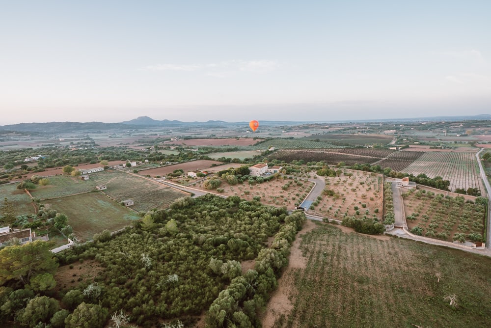
M 65 319 L 66 328 L 102 328 L 106 324 L 108 310 L 97 304 L 82 302 Z

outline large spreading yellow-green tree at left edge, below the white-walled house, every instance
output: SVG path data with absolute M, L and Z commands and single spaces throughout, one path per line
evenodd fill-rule
M 19 279 L 25 285 L 36 273 L 55 273 L 58 263 L 51 247 L 52 243 L 38 240 L 1 249 L 0 285 L 12 279 Z

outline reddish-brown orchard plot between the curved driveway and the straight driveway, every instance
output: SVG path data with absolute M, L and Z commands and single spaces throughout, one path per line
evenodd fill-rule
M 382 220 L 383 176 L 343 170 L 339 177 L 324 177 L 326 188 L 310 207 L 310 214 L 329 219 L 344 217 Z

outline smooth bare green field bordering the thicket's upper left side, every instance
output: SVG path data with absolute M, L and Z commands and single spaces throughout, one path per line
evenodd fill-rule
M 51 199 L 49 203 L 68 216 L 68 224 L 82 241 L 92 239 L 95 233 L 104 229 L 115 231 L 139 219 L 135 212 L 98 191 Z

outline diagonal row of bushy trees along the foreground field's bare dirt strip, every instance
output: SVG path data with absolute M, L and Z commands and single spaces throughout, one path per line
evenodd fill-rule
M 259 251 L 255 270 L 234 278 L 210 305 L 206 317 L 209 327 L 260 327 L 258 311 L 276 289 L 276 278 L 288 264 L 290 246 L 304 222 L 303 212 L 296 212 L 285 219 L 271 248 Z

